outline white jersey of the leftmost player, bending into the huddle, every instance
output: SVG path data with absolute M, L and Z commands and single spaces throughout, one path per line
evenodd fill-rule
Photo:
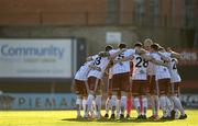
M 76 80 L 87 81 L 90 71 L 89 65 L 94 65 L 94 60 L 85 62 L 75 75 Z

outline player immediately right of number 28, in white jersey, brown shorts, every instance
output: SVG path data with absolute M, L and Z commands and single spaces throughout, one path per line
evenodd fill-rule
M 151 55 L 155 60 L 161 60 L 164 62 L 169 62 L 169 59 L 166 57 L 163 57 L 163 55 L 160 55 L 158 53 L 158 45 L 153 44 L 151 45 Z M 169 106 L 167 104 L 170 103 L 169 99 L 167 98 L 169 93 L 170 88 L 170 73 L 168 71 L 167 67 L 154 65 L 155 69 L 155 80 L 157 81 L 157 94 L 160 95 L 160 105 L 163 111 L 163 117 L 162 119 L 168 119 L 168 114 L 170 113 L 168 110 Z

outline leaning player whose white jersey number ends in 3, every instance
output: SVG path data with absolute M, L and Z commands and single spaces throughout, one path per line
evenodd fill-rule
M 88 117 L 88 113 L 91 110 L 92 101 L 96 101 L 96 117 L 101 117 L 101 90 L 100 90 L 100 81 L 103 76 L 103 72 L 109 65 L 110 60 L 112 60 L 116 56 L 118 56 L 123 50 L 109 50 L 109 51 L 101 51 L 98 56 L 94 59 L 95 62 L 92 66 L 95 69 L 91 69 L 88 73 L 88 85 L 89 85 L 89 94 L 87 99 L 87 108 L 85 112 L 85 118 Z M 97 69 L 96 69 L 97 68 Z M 96 99 L 95 99 L 96 95 Z

